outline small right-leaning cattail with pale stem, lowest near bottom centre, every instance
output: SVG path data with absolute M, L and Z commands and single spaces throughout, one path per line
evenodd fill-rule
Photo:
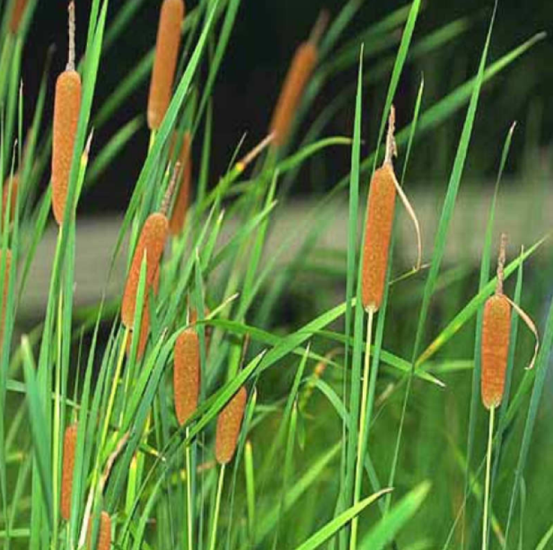
M 234 453 L 236 452 L 236 445 L 238 444 L 238 435 L 240 435 L 246 400 L 246 388 L 242 386 L 234 394 L 234 397 L 232 397 L 232 399 L 227 403 L 225 408 L 219 412 L 217 417 L 217 428 L 215 432 L 215 459 L 219 464 L 221 464 L 221 470 L 219 471 L 214 520 L 212 525 L 212 537 L 211 543 L 209 544 L 209 550 L 215 549 L 219 505 L 221 504 L 223 480 L 225 478 L 225 466 L 232 460 L 232 457 L 234 457 Z

